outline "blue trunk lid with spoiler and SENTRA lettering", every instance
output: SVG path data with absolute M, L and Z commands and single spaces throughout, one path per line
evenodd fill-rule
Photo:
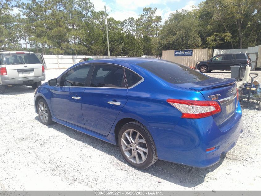
M 204 81 L 176 85 L 199 91 L 207 101 L 217 101 L 222 111 L 213 115 L 213 118 L 218 126 L 224 125 L 236 110 L 237 90 L 235 79 L 210 77 Z

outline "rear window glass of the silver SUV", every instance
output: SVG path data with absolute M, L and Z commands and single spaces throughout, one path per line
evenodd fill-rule
M 2 65 L 36 64 L 40 63 L 35 54 L 5 54 Z

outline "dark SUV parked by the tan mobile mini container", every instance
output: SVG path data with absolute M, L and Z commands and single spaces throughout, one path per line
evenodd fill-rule
M 251 65 L 251 59 L 247 53 L 217 54 L 207 61 L 199 61 L 196 69 L 201 73 L 211 72 L 212 70 L 229 70 L 232 65 Z

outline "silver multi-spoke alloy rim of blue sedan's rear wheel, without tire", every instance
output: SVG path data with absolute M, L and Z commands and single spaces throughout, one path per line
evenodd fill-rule
M 133 163 L 143 163 L 148 155 L 144 137 L 134 129 L 127 129 L 121 137 L 121 147 L 126 157 Z

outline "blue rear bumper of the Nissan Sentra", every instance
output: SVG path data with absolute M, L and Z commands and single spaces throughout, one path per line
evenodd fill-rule
M 209 167 L 221 154 L 232 149 L 242 133 L 242 110 L 237 110 L 229 122 L 218 127 L 212 116 L 202 119 L 181 119 L 173 130 L 150 127 L 158 158 L 194 167 Z M 206 152 L 206 149 L 216 147 Z

